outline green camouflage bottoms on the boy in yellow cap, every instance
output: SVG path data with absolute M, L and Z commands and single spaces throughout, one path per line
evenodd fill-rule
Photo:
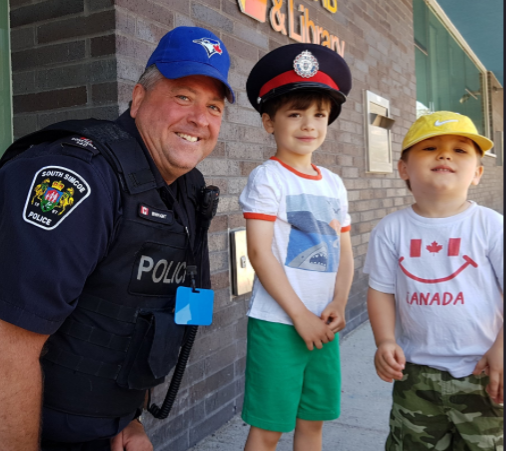
M 455 378 L 406 364 L 396 381 L 386 451 L 503 451 L 503 407 L 491 401 L 488 376 Z

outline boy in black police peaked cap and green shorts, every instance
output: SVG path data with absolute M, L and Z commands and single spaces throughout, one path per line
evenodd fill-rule
M 256 271 L 248 310 L 247 451 L 321 449 L 323 421 L 340 409 L 337 332 L 353 277 L 350 216 L 339 176 L 311 163 L 351 89 L 337 53 L 292 44 L 264 56 L 246 83 L 274 135 L 274 157 L 250 174 L 239 202 Z

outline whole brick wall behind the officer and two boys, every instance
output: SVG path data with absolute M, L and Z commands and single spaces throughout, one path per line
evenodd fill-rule
M 113 4 L 114 3 L 114 4 Z M 286 3 L 286 2 L 285 2 Z M 411 0 L 347 0 L 333 15 L 320 2 L 298 0 L 318 25 L 346 42 L 344 57 L 353 89 L 340 118 L 314 161 L 341 175 L 352 217 L 355 279 L 342 335 L 367 318 L 367 279 L 362 274 L 372 228 L 386 214 L 412 201 L 394 172 L 366 174 L 363 90 L 390 101 L 394 161 L 415 119 L 416 79 Z M 245 93 L 247 74 L 269 50 L 293 42 L 268 23 L 243 15 L 236 0 L 10 0 L 17 137 L 67 118 L 114 119 L 158 40 L 179 25 L 212 30 L 232 59 L 230 82 L 237 103 L 228 105 L 213 154 L 200 164 L 222 196 L 210 236 L 212 283 L 216 292 L 211 327 L 199 330 L 178 399 L 170 417 L 147 420 L 157 451 L 182 451 L 212 433 L 242 405 L 245 312 L 249 297 L 230 295 L 230 229 L 244 226 L 238 196 L 247 176 L 273 155 L 274 141 L 263 132 Z M 498 207 L 501 168 L 484 158 L 487 174 L 475 200 Z M 170 379 L 170 378 L 169 378 Z M 157 387 L 160 403 L 167 385 Z

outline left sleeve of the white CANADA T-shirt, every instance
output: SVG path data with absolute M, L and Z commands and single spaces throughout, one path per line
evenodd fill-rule
M 371 288 L 382 293 L 395 294 L 397 253 L 388 235 L 382 222 L 373 229 L 363 271 L 369 274 Z

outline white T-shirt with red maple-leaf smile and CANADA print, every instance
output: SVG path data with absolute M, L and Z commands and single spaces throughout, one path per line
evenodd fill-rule
M 396 211 L 372 231 L 364 272 L 395 295 L 408 362 L 469 376 L 503 324 L 503 216 L 474 202 L 449 218 Z

